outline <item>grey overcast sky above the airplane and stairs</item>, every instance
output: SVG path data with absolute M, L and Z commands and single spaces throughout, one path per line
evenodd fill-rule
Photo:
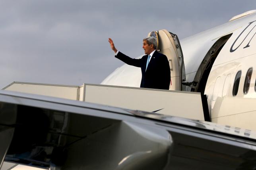
M 249 10 L 255 0 L 3 0 L 0 88 L 13 81 L 99 84 L 123 64 L 109 37 L 138 57 L 148 32 L 167 29 L 182 39 Z

